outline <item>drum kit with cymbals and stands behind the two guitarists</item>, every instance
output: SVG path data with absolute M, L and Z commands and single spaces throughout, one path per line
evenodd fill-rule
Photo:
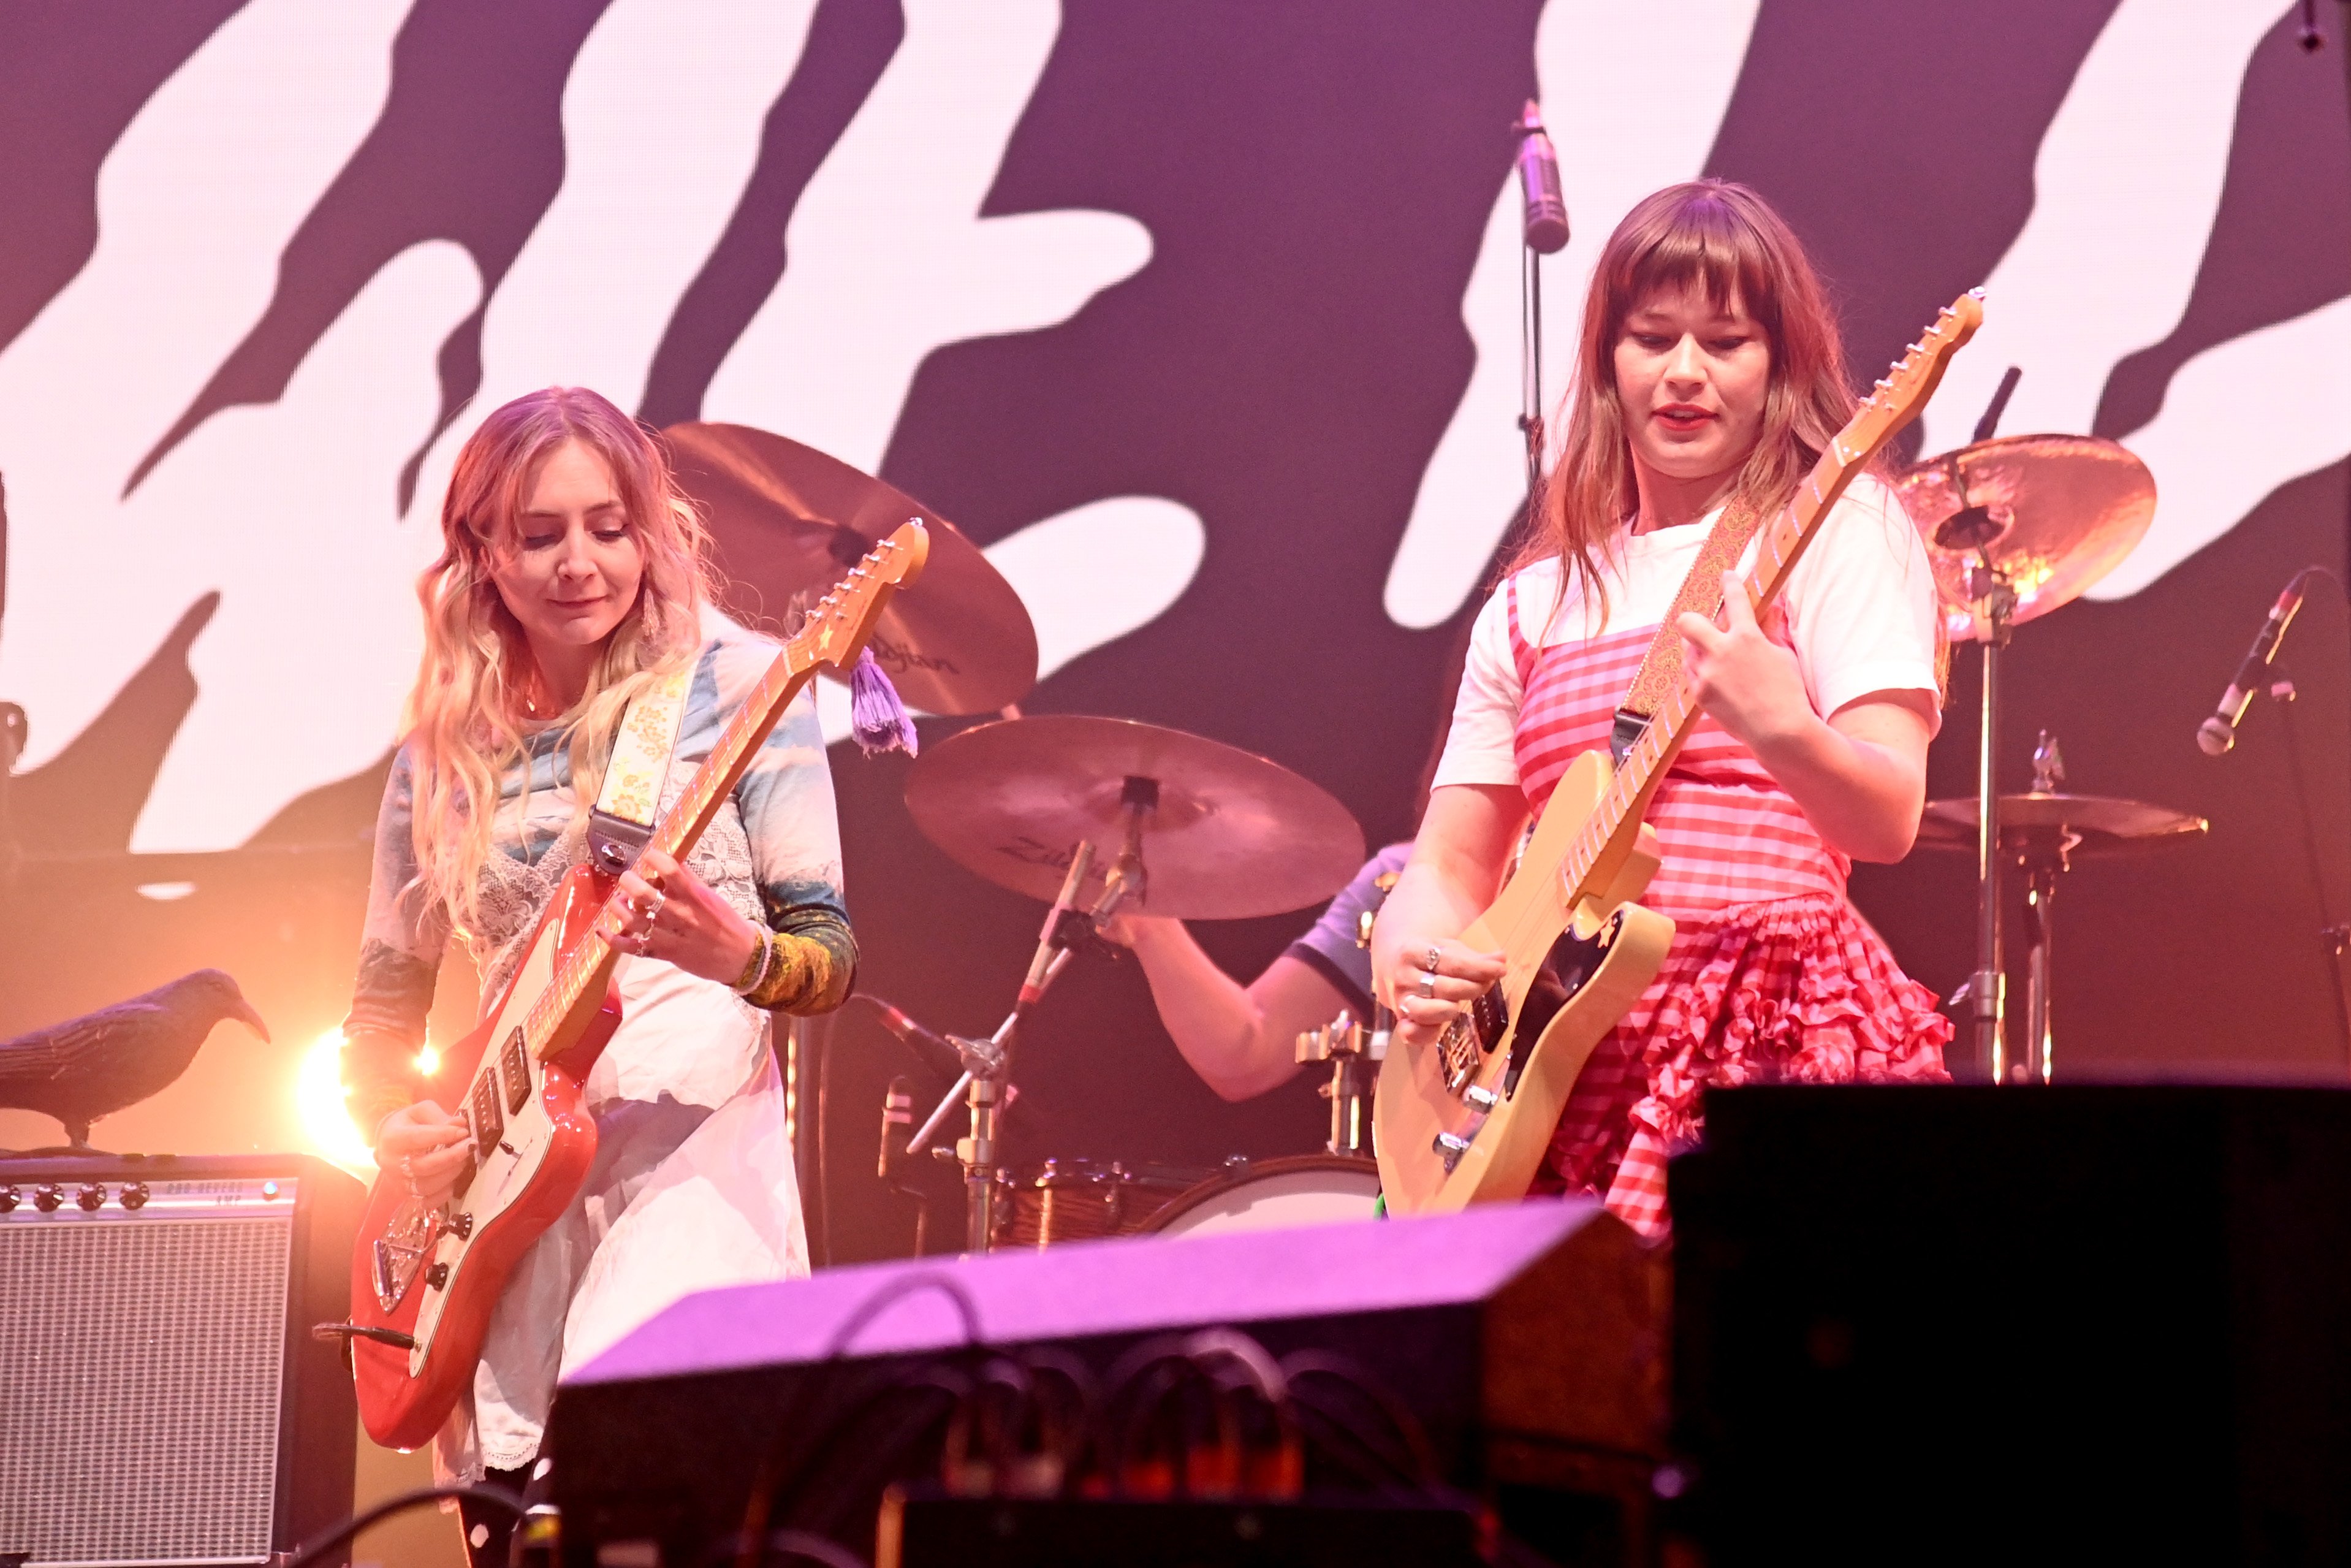
M 1982 649 L 1980 790 L 1925 809 L 1921 849 L 1972 849 L 1980 961 L 1954 1001 L 1977 1023 L 1980 1072 L 2045 1081 L 2052 903 L 2078 858 L 2177 844 L 2201 818 L 2130 799 L 2064 792 L 2043 733 L 2034 788 L 2001 795 L 1998 663 L 2010 632 L 2076 599 L 2146 534 L 2154 482 L 2114 442 L 2076 435 L 1994 440 L 2012 381 L 1977 440 L 1895 475 L 1935 569 L 1951 642 Z M 1208 1234 L 1255 1225 L 1368 1218 L 1378 1171 L 1368 1100 L 1387 1013 L 1340 1016 L 1298 1037 L 1295 1060 L 1326 1067 L 1331 1138 L 1321 1152 L 1187 1171 L 1124 1161 L 999 1161 L 1013 1046 L 1072 954 L 1117 912 L 1248 919 L 1331 898 L 1364 863 L 1364 832 L 1326 790 L 1253 752 L 1133 719 L 1034 715 L 1016 703 L 1037 679 L 1037 635 L 1018 592 L 959 529 L 919 501 L 820 451 L 764 430 L 672 425 L 684 489 L 710 520 L 724 604 L 762 623 L 858 559 L 910 515 L 931 529 L 919 592 L 893 599 L 875 654 L 910 705 L 985 715 L 912 766 L 915 825 L 969 872 L 1049 903 L 1018 1001 L 987 1037 L 931 1034 L 959 1079 L 905 1145 L 962 1166 L 971 1251 L 1051 1246 L 1107 1234 Z M 2022 1051 L 2005 1044 L 2003 872 L 2024 872 L 2031 914 Z M 1371 917 L 1361 938 L 1368 943 Z M 893 1009 L 891 1009 L 893 1011 Z M 903 1016 L 900 1016 L 903 1018 Z M 896 1027 L 896 1025 L 893 1025 Z M 969 1131 L 945 1145 L 947 1121 Z

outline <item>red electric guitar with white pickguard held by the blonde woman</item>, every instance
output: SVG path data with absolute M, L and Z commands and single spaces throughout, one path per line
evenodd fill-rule
M 686 858 L 792 696 L 816 670 L 856 661 L 929 548 L 922 522 L 907 522 L 809 611 L 654 827 L 651 849 Z M 444 1053 L 437 1079 L 465 1084 L 456 1112 L 473 1154 L 456 1194 L 426 1206 L 395 1171 L 369 1192 L 350 1260 L 350 1347 L 360 1418 L 388 1448 L 416 1448 L 449 1418 L 508 1274 L 588 1178 L 595 1121 L 581 1110 L 581 1081 L 621 1023 L 618 952 L 597 931 L 614 889 L 592 863 L 574 867 L 498 1006 Z

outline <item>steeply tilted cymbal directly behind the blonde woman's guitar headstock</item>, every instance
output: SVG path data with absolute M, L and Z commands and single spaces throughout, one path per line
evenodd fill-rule
M 922 501 L 750 425 L 689 421 L 663 435 L 677 482 L 710 517 L 729 614 L 781 623 L 797 595 L 825 592 L 875 541 L 922 517 L 922 585 L 891 597 L 868 644 L 898 696 L 926 712 L 994 712 L 1037 684 L 1037 628 L 1020 595 Z

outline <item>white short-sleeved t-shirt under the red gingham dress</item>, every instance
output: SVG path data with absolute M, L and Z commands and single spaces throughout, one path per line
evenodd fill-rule
M 1608 616 L 1568 590 L 1559 604 L 1559 559 L 1514 574 L 1519 635 L 1538 646 L 1585 642 L 1608 630 L 1657 625 L 1690 574 L 1721 508 L 1700 522 L 1648 534 L 1617 534 L 1608 574 Z M 1754 567 L 1754 543 L 1740 559 Z M 1495 592 L 1469 630 L 1453 729 L 1434 785 L 1516 785 L 1519 661 L 1509 644 L 1509 592 Z M 1829 510 L 1780 595 L 1789 644 L 1813 710 L 1822 717 L 1871 691 L 1935 693 L 1935 574 L 1918 529 L 1893 489 L 1871 475 L 1853 480 Z M 1937 703 L 1933 724 L 1940 726 Z

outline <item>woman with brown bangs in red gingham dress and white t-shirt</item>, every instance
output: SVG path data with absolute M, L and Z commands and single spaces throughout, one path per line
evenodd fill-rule
M 1744 186 L 1646 197 L 1592 277 L 1566 442 L 1535 529 L 1479 614 L 1446 755 L 1373 938 L 1399 1037 L 1427 1044 L 1502 973 L 1460 943 L 1568 764 L 1615 710 L 1726 508 L 1770 517 L 1855 409 L 1836 322 L 1787 223 Z M 1749 550 L 1751 555 L 1751 550 Z M 1726 574 L 1726 583 L 1735 583 Z M 1683 614 L 1702 717 L 1648 823 L 1641 898 L 1674 945 L 1594 1048 L 1538 1190 L 1667 1229 L 1665 1159 L 1707 1084 L 1942 1079 L 1951 1025 L 1846 898 L 1900 860 L 1940 722 L 1935 583 L 1860 475 L 1761 625 Z

